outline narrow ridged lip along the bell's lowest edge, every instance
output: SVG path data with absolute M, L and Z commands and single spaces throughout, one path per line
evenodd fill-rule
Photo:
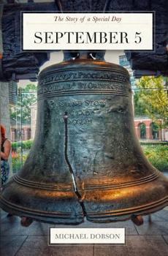
M 98 223 L 105 223 L 105 222 L 118 222 L 118 221 L 126 221 L 131 219 L 131 217 L 134 216 L 145 216 L 148 214 L 153 214 L 156 211 L 160 211 L 164 207 L 168 206 L 168 196 L 163 198 L 162 200 L 158 200 L 156 202 L 151 204 L 147 204 L 145 206 L 140 206 L 135 208 L 128 208 L 124 211 L 124 214 L 122 212 L 102 212 L 102 213 L 91 213 L 87 212 L 87 214 L 78 214 L 78 215 L 72 215 L 72 214 L 58 214 L 56 212 L 53 212 L 52 214 L 48 214 L 45 211 L 40 211 L 39 214 L 34 212 L 32 209 L 27 208 L 18 208 L 18 206 L 6 202 L 1 196 L 0 196 L 0 206 L 4 211 L 9 212 L 12 215 L 16 215 L 18 217 L 30 217 L 31 219 L 34 219 L 36 221 L 40 222 L 47 222 L 47 223 L 55 223 L 60 225 L 79 225 L 80 223 L 84 222 L 84 219 L 86 219 L 90 222 L 98 222 Z M 72 217 L 73 216 L 73 217 Z

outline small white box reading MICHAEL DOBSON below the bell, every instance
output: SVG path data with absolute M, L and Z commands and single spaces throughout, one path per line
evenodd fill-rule
M 50 227 L 50 244 L 125 244 L 125 228 Z

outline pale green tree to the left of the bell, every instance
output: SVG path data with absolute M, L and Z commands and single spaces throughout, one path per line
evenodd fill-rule
M 17 105 L 10 108 L 12 120 L 31 123 L 31 105 L 37 101 L 37 86 L 30 83 L 24 88 L 18 89 Z

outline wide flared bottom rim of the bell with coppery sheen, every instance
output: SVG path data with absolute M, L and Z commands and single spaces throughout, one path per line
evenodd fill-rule
M 168 205 L 168 180 L 161 173 L 152 181 L 133 186 L 79 190 L 34 188 L 12 178 L 1 193 L 4 211 L 41 222 L 79 225 L 90 222 L 116 222 L 132 216 L 152 214 Z M 47 204 L 46 204 L 47 202 Z

